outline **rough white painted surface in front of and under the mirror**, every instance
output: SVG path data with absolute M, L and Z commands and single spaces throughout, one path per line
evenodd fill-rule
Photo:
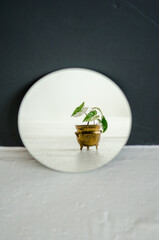
M 158 240 L 159 146 L 125 147 L 88 173 L 0 149 L 1 240 Z

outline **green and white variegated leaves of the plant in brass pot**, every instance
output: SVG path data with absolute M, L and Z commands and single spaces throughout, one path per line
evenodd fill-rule
M 87 125 L 88 125 L 89 122 L 94 122 L 95 124 L 95 121 L 98 121 L 98 124 L 101 125 L 104 133 L 108 128 L 108 123 L 101 109 L 98 107 L 93 107 L 91 111 L 89 111 L 89 113 L 86 113 L 88 110 L 88 107 L 84 107 L 84 104 L 85 103 L 83 102 L 79 107 L 77 107 L 72 113 L 71 117 L 80 117 L 83 114 L 85 114 L 86 116 L 83 119 L 83 122 L 87 122 Z M 97 110 L 100 112 L 100 115 L 97 114 Z

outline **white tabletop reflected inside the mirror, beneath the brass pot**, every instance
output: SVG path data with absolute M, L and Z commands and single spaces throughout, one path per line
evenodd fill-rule
M 25 135 L 24 139 L 27 149 L 39 162 L 64 172 L 87 172 L 101 167 L 111 161 L 127 141 L 125 137 L 102 136 L 98 150 L 93 146 L 89 150 L 83 147 L 81 151 L 76 136 L 55 138 L 37 134 Z

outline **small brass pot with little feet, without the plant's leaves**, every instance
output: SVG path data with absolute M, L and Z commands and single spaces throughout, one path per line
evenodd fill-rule
M 86 146 L 87 149 L 91 146 L 96 146 L 96 149 L 98 149 L 102 132 L 100 125 L 76 125 L 76 129 L 77 132 L 75 134 L 80 145 L 80 150 L 82 150 L 83 146 Z

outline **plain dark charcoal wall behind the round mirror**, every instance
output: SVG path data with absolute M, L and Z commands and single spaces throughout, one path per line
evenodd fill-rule
M 1 1 L 0 145 L 20 146 L 20 102 L 42 76 L 83 67 L 110 77 L 132 109 L 128 144 L 159 144 L 159 1 Z

